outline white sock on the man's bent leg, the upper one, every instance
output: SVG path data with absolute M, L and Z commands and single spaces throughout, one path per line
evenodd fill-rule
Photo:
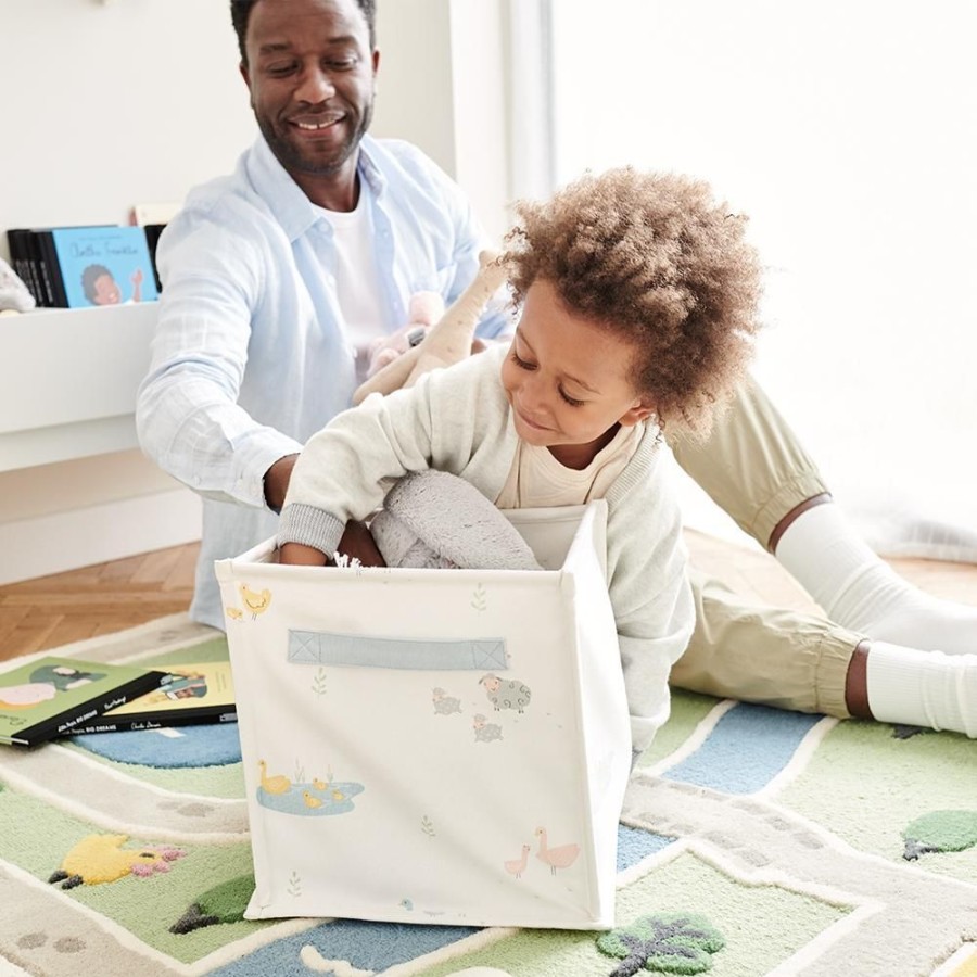
M 941 600 L 903 580 L 837 505 L 801 512 L 781 536 L 776 557 L 838 624 L 874 640 L 977 654 L 977 607 Z

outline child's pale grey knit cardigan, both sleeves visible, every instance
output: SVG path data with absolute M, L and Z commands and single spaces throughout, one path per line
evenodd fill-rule
M 499 378 L 507 353 L 499 344 L 407 390 L 372 394 L 314 434 L 292 472 L 279 544 L 332 553 L 346 522 L 367 518 L 408 471 L 447 471 L 498 499 L 519 448 Z M 691 636 L 695 606 L 671 453 L 656 424 L 631 430 L 634 451 L 605 494 L 607 576 L 640 750 L 668 719 L 669 672 Z

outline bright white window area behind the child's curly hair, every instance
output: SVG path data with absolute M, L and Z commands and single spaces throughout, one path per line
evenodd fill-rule
M 757 371 L 835 494 L 890 553 L 941 524 L 977 537 L 977 8 L 554 10 L 560 179 L 709 179 L 767 267 Z

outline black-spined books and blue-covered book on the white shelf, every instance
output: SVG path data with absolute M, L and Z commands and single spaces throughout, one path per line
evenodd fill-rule
M 7 232 L 11 265 L 45 308 L 151 302 L 161 227 L 46 227 Z

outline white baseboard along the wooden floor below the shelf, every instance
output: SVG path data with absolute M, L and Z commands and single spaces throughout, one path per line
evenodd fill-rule
M 77 570 L 200 538 L 189 488 L 0 524 L 0 584 Z

